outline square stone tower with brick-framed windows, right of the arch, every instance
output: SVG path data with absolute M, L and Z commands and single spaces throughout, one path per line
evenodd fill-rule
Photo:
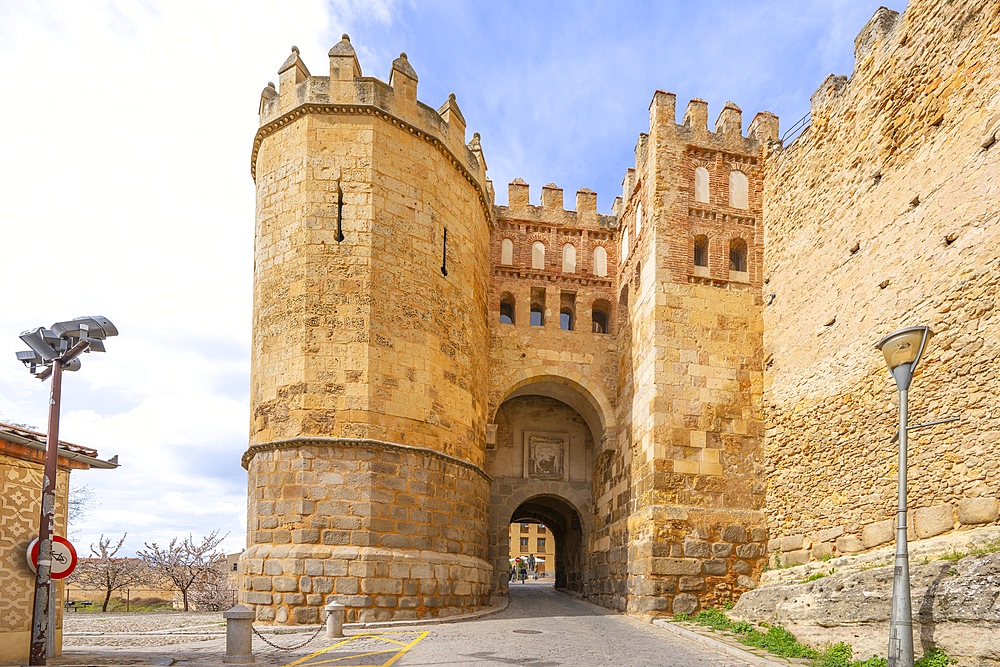
M 710 132 L 701 100 L 678 125 L 674 96 L 657 93 L 625 179 L 630 611 L 690 612 L 733 599 L 762 566 L 758 167 L 775 130 L 776 119 L 761 114 L 744 137 L 739 109 L 727 104 Z M 708 170 L 703 202 L 694 196 L 697 167 Z M 732 171 L 746 177 L 744 201 L 730 199 Z M 698 235 L 708 237 L 707 267 L 694 263 Z M 737 270 L 734 242 L 743 248 Z

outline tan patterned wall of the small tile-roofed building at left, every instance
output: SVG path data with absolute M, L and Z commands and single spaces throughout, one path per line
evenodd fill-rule
M 42 496 L 44 454 L 20 445 L 22 456 L 0 454 L 0 662 L 28 659 L 31 645 L 31 613 L 35 596 L 35 573 L 24 554 L 38 537 L 38 512 Z M 57 535 L 66 534 L 69 472 L 56 475 Z M 56 582 L 56 655 L 62 650 L 63 585 Z

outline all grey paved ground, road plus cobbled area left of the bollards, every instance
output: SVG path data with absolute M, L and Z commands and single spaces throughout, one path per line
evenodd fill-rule
M 82 616 L 82 615 L 81 615 Z M 177 665 L 222 663 L 221 614 L 67 615 L 66 650 L 52 665 Z M 157 618 L 159 617 L 159 618 Z M 108 632 L 108 630 L 112 630 Z M 311 632 L 267 634 L 282 646 Z M 343 640 L 319 634 L 304 647 L 279 651 L 254 637 L 265 667 L 747 667 L 752 663 L 555 591 L 550 583 L 511 586 L 510 606 L 460 623 L 348 627 Z

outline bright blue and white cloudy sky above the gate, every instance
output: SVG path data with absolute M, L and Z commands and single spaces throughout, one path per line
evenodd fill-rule
M 525 179 L 610 212 L 657 89 L 710 122 L 731 100 L 782 131 L 879 6 L 805 2 L 0 0 L 0 419 L 45 423 L 17 334 L 103 314 L 121 332 L 67 376 L 62 436 L 119 454 L 74 474 L 97 506 L 77 544 L 229 531 L 244 542 L 261 88 L 297 45 L 314 74 L 351 35 L 366 76 L 408 54 L 418 97 L 457 95 L 498 203 Z M 905 3 L 889 1 L 903 10 Z

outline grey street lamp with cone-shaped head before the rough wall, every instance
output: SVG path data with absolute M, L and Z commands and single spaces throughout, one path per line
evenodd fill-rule
M 892 577 L 888 667 L 913 667 L 913 612 L 910 607 L 910 565 L 906 549 L 906 431 L 907 392 L 924 346 L 934 335 L 930 327 L 910 327 L 879 341 L 899 389 L 899 478 L 896 509 L 896 566 Z

